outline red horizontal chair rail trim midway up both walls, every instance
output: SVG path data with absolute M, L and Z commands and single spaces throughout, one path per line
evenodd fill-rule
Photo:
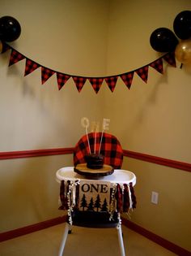
M 48 150 L 23 150 L 23 151 L 9 151 L 0 152 L 0 160 L 14 159 L 14 158 L 32 158 L 40 156 L 49 156 L 57 154 L 73 154 L 74 148 L 58 148 Z M 159 165 L 173 167 L 183 171 L 191 171 L 191 163 L 179 162 L 168 158 L 160 158 L 150 154 L 138 153 L 130 150 L 123 150 L 125 157 L 135 158 L 145 162 L 156 163 Z

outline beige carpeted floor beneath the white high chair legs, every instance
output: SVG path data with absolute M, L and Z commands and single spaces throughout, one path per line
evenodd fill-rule
M 65 223 L 0 243 L 0 256 L 57 256 Z M 172 252 L 123 228 L 126 256 L 173 256 Z M 74 227 L 68 236 L 64 256 L 120 255 L 115 228 Z

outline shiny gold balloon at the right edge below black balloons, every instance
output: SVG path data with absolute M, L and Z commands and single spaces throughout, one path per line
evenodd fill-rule
M 179 42 L 176 46 L 175 56 L 180 63 L 191 63 L 191 39 Z

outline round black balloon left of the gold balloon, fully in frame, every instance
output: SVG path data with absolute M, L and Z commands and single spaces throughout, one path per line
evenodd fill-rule
M 172 52 L 176 49 L 178 39 L 168 28 L 157 28 L 151 33 L 150 44 L 159 52 Z

